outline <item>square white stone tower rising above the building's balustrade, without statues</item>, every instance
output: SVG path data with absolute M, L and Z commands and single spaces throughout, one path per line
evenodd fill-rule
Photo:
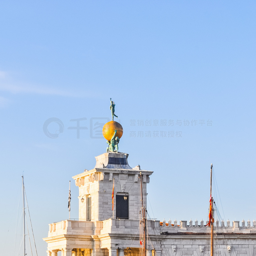
M 131 168 L 128 154 L 107 152 L 96 158 L 92 170 L 85 170 L 72 178 L 79 187 L 79 220 L 102 221 L 109 218 L 139 219 L 141 188 L 139 174 L 142 174 L 144 202 L 146 184 L 153 173 Z M 114 184 L 114 209 L 112 192 Z

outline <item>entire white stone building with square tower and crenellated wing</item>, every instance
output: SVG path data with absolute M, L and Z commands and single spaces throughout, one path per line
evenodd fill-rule
M 139 256 L 139 174 L 146 195 L 146 185 L 153 172 L 140 170 L 140 166 L 131 168 L 127 157 L 125 153 L 104 153 L 95 157 L 94 169 L 73 177 L 79 188 L 79 220 L 49 224 L 48 237 L 44 238 L 48 243 L 47 255 L 57 256 L 61 251 L 62 256 Z M 148 256 L 209 255 L 206 223 L 196 221 L 192 225 L 192 221 L 180 221 L 178 224 L 177 221 L 173 224 L 147 221 Z M 247 225 L 242 221 L 242 226 L 239 221 L 232 224 L 228 221 L 227 225 L 216 221 L 215 226 L 216 254 L 256 256 L 256 221 L 248 221 Z

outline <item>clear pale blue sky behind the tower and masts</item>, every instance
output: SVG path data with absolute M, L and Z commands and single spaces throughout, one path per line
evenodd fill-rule
M 2 1 L 1 248 L 13 255 L 22 174 L 38 256 L 48 223 L 68 218 L 69 180 L 78 218 L 71 177 L 106 150 L 110 97 L 119 151 L 154 171 L 151 218 L 206 221 L 213 163 L 225 220 L 253 221 L 255 13 L 255 1 Z

